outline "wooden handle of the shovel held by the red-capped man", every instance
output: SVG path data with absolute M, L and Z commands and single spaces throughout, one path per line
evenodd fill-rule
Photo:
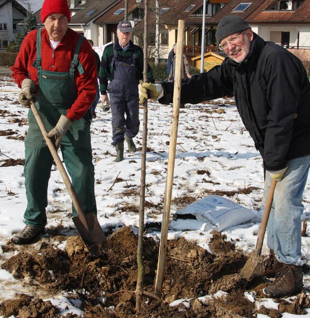
M 86 219 L 85 219 L 85 215 L 84 215 L 84 212 L 82 211 L 82 207 L 79 203 L 79 200 L 78 200 L 78 196 L 77 196 L 77 193 L 76 191 L 74 190 L 73 188 L 73 185 L 69 179 L 69 176 L 67 174 L 67 172 L 65 171 L 64 167 L 63 167 L 63 164 L 62 164 L 62 160 L 59 158 L 59 155 L 57 153 L 57 150 L 54 146 L 54 143 L 47 137 L 47 129 L 46 127 L 44 126 L 44 123 L 41 119 L 41 116 L 40 116 L 40 113 L 39 111 L 37 110 L 35 104 L 31 101 L 30 102 L 30 107 L 31 107 L 31 111 L 33 112 L 33 115 L 41 129 L 41 132 L 42 132 L 42 135 L 43 135 L 43 138 L 45 139 L 46 143 L 47 143 L 47 147 L 58 167 L 58 170 L 60 172 L 60 174 L 62 175 L 62 179 L 67 187 L 67 190 L 70 194 L 70 197 L 71 197 L 71 200 L 72 200 L 72 203 L 73 203 L 73 206 L 75 207 L 75 209 L 77 210 L 78 212 L 78 215 L 79 215 L 79 218 L 81 219 L 81 222 L 84 224 L 84 226 L 88 229 L 88 224 L 86 222 Z

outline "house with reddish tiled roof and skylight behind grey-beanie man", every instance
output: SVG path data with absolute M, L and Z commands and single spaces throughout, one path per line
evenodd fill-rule
M 223 16 L 245 18 L 265 41 L 286 48 L 310 48 L 310 0 L 230 0 L 209 21 L 216 27 Z

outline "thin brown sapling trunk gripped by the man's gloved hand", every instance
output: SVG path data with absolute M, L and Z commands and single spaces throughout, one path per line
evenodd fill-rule
M 147 82 L 147 25 L 148 25 L 148 4 L 144 2 L 144 64 L 143 64 L 143 81 Z M 140 188 L 140 208 L 139 208 L 139 234 L 138 234 L 138 277 L 136 287 L 136 313 L 139 314 L 142 300 L 144 264 L 143 264 L 143 232 L 144 232 L 144 202 L 145 202 L 145 175 L 146 175 L 146 145 L 147 145 L 147 100 L 143 105 L 143 136 L 142 136 L 142 154 L 141 154 L 141 188 Z

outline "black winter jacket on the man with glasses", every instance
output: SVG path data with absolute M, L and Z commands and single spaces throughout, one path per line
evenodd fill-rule
M 168 104 L 173 84 L 162 85 L 159 102 Z M 183 80 L 181 103 L 197 104 L 232 92 L 266 170 L 280 170 L 288 159 L 310 154 L 310 83 L 303 64 L 287 49 L 254 33 L 242 63 L 226 58 L 209 72 Z

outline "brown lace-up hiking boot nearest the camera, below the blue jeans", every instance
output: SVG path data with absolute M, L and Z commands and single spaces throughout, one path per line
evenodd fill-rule
M 263 289 L 263 293 L 281 298 L 299 294 L 302 291 L 302 266 L 284 264 L 277 271 L 276 280 Z

